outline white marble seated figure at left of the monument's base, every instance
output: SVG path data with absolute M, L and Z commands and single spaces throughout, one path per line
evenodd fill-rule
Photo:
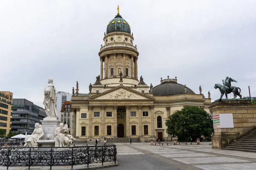
M 24 147 L 38 147 L 38 141 L 44 136 L 44 131 L 39 123 L 35 124 L 35 129 L 31 135 L 26 135 Z

